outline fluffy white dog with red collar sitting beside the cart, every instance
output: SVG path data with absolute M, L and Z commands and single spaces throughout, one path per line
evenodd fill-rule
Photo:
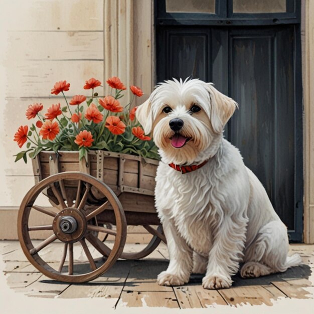
M 168 241 L 170 263 L 161 285 L 182 285 L 206 273 L 203 287 L 226 288 L 242 277 L 285 271 L 285 225 L 239 150 L 223 138 L 237 103 L 198 79 L 166 81 L 140 105 L 136 117 L 153 134 L 162 161 L 155 205 Z

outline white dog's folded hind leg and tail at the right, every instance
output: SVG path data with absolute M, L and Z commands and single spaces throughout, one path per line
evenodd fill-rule
M 288 249 L 285 225 L 279 220 L 267 223 L 245 251 L 245 263 L 240 271 L 241 276 L 265 276 L 299 265 L 300 256 L 298 254 L 288 256 Z

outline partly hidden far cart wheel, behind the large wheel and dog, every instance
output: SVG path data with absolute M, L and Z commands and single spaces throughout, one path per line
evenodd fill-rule
M 120 255 L 120 258 L 123 258 L 123 259 L 140 259 L 140 258 L 144 258 L 147 255 L 149 255 L 150 253 L 152 253 L 155 250 L 155 248 L 159 246 L 161 241 L 163 241 L 164 243 L 167 244 L 166 237 L 164 235 L 164 231 L 163 231 L 163 227 L 162 226 L 158 226 L 157 229 L 154 229 L 153 227 L 151 227 L 149 225 L 144 225 L 143 227 L 150 234 L 153 235 L 153 237 L 151 238 L 151 240 L 149 241 L 147 246 L 145 246 L 139 252 L 130 252 L 130 253 L 123 252 Z M 105 247 L 106 247 L 106 256 L 108 256 L 111 253 L 111 249 L 107 245 L 105 245 Z

